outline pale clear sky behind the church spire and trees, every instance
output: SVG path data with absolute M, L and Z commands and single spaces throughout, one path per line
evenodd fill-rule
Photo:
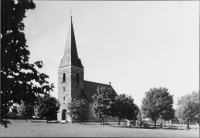
M 132 95 L 165 87 L 177 98 L 199 90 L 198 1 L 34 1 L 24 19 L 30 63 L 54 83 L 70 25 L 70 8 L 84 79 Z

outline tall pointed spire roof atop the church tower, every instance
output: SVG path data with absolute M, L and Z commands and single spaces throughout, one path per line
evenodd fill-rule
M 69 31 L 67 34 L 67 41 L 65 44 L 64 56 L 61 60 L 59 67 L 69 66 L 69 65 L 83 68 L 81 60 L 78 58 L 74 28 L 73 28 L 73 23 L 72 23 L 72 16 L 71 16 L 71 24 L 70 24 Z

